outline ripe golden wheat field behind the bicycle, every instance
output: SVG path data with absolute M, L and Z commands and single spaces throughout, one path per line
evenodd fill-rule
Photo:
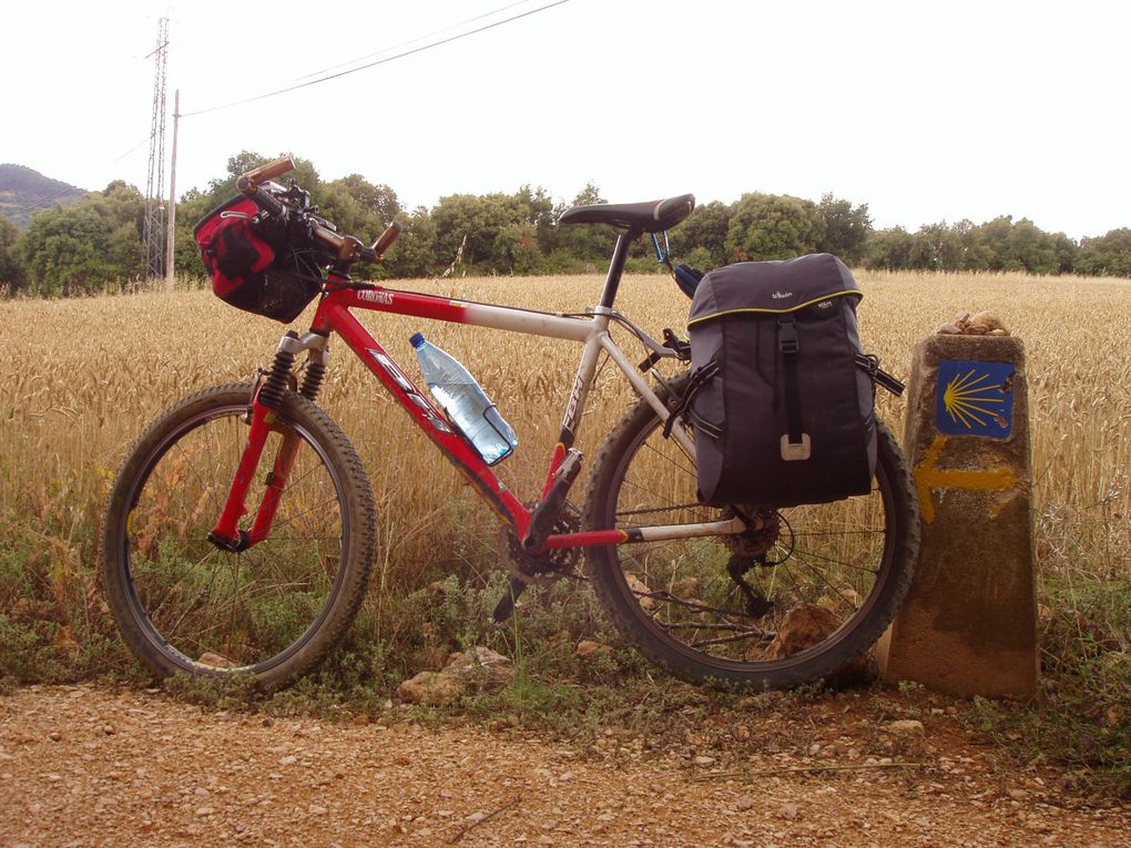
M 860 282 L 865 348 L 900 378 L 907 377 L 915 343 L 960 310 L 993 310 L 1003 318 L 1028 357 L 1042 572 L 1125 574 L 1131 282 L 877 272 L 862 272 Z M 596 300 L 601 285 L 592 276 L 420 280 L 404 287 L 578 312 Z M 627 277 L 618 301 L 657 337 L 663 327 L 683 329 L 688 305 L 663 276 Z M 43 588 L 58 599 L 89 603 L 97 591 L 90 571 L 103 507 L 132 441 L 175 399 L 252 379 L 269 364 L 284 328 L 192 289 L 0 302 L 0 540 L 20 539 L 35 551 L 36 572 L 52 583 Z M 476 374 L 520 439 L 500 476 L 533 500 L 580 347 L 377 313 L 364 314 L 363 322 L 411 375 L 418 373 L 408 344 L 416 330 Z M 632 339 L 619 340 L 634 357 Z M 321 401 L 354 440 L 372 479 L 380 533 L 375 591 L 400 591 L 446 569 L 480 568 L 501 536 L 498 520 L 348 349 L 340 343 L 330 349 Z M 596 456 L 630 399 L 615 370 L 605 369 L 578 445 L 587 458 Z M 881 416 L 901 432 L 901 401 L 882 399 Z

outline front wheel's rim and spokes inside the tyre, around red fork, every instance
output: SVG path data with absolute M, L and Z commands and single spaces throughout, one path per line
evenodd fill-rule
M 247 442 L 245 409 L 224 405 L 183 422 L 127 495 L 130 614 L 166 660 L 197 674 L 259 675 L 294 657 L 330 614 L 349 554 L 343 481 L 310 432 L 282 416 L 247 499 L 253 514 L 290 429 L 301 445 L 271 534 L 239 554 L 208 542 Z

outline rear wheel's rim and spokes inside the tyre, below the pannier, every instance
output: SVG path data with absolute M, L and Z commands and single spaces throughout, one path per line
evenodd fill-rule
M 674 439 L 662 436 L 658 423 L 642 427 L 621 456 L 604 526 L 630 529 L 731 514 L 698 502 L 693 460 Z M 861 631 L 877 630 L 867 625 L 890 582 L 893 514 L 891 486 L 878 462 L 870 494 L 762 511 L 770 529 L 761 538 L 620 545 L 605 548 L 604 559 L 625 612 L 667 649 L 724 676 L 788 673 L 815 668 L 849 637 L 855 643 Z M 727 572 L 735 559 L 750 594 Z M 761 611 L 762 600 L 772 604 L 768 612 Z

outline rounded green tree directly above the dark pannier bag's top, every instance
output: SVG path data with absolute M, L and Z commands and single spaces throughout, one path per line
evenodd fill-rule
M 824 239 L 824 218 L 812 200 L 788 194 L 743 194 L 727 230 L 732 261 L 791 259 Z

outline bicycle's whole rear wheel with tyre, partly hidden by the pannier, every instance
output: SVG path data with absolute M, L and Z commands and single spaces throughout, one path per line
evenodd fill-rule
M 684 378 L 685 379 L 685 378 Z M 684 379 L 673 383 L 677 393 Z M 741 505 L 739 535 L 594 547 L 587 562 L 622 635 L 693 683 L 785 689 L 828 677 L 864 654 L 910 585 L 918 508 L 895 438 L 878 426 L 867 495 L 788 509 Z M 586 529 L 718 521 L 697 499 L 694 460 L 634 405 L 598 455 Z

